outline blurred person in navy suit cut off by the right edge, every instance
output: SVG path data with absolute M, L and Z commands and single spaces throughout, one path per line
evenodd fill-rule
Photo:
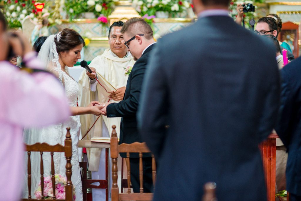
M 301 57 L 281 69 L 281 107 L 275 130 L 287 148 L 286 187 L 290 201 L 301 200 Z

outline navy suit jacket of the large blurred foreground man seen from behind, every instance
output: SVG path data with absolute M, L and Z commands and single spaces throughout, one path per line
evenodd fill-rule
M 158 160 L 154 200 L 266 200 L 258 145 L 275 125 L 275 48 L 228 16 L 201 17 L 158 40 L 138 109 Z M 169 125 L 168 129 L 165 125 Z

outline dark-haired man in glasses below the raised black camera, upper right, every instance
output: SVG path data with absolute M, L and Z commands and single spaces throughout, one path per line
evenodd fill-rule
M 277 38 L 278 36 L 278 26 L 276 23 L 276 20 L 272 17 L 262 17 L 258 20 L 256 27 L 255 27 L 255 33 L 259 34 L 259 35 L 273 35 Z M 282 55 L 282 49 L 283 47 L 280 46 L 280 53 Z M 294 60 L 295 57 L 293 55 L 292 52 L 290 52 L 289 50 L 287 51 L 287 57 L 288 60 Z

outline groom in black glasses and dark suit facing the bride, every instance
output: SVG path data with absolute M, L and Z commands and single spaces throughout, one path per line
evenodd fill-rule
M 102 108 L 103 114 L 111 117 L 122 117 L 120 124 L 120 142 L 134 143 L 142 142 L 137 130 L 136 112 L 140 103 L 141 85 L 144 72 L 149 61 L 150 54 L 154 48 L 153 31 L 149 24 L 142 18 L 131 18 L 122 27 L 121 33 L 126 47 L 134 58 L 137 59 L 126 84 L 124 98 L 119 103 L 105 103 Z M 120 154 L 126 157 L 125 153 Z M 143 155 L 143 188 L 144 193 L 152 192 L 152 169 L 151 155 Z M 138 153 L 130 155 L 131 183 L 134 193 L 139 193 L 139 158 Z

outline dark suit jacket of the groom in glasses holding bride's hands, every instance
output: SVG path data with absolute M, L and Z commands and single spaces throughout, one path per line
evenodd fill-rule
M 136 112 L 140 104 L 141 86 L 144 79 L 147 62 L 150 57 L 151 50 L 155 44 L 149 46 L 135 62 L 126 83 L 126 91 L 123 100 L 119 103 L 111 103 L 107 106 L 107 117 L 122 117 L 120 123 L 120 141 L 121 143 L 143 142 L 137 129 Z M 120 154 L 126 157 L 126 154 Z M 131 157 L 137 157 L 137 154 L 131 154 Z M 144 154 L 151 156 L 150 154 Z

